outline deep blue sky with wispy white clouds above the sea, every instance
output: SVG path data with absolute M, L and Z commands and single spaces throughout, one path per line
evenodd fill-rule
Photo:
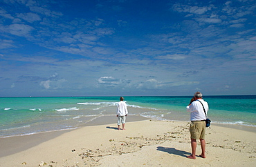
M 0 96 L 256 95 L 255 14 L 255 0 L 0 0 Z

